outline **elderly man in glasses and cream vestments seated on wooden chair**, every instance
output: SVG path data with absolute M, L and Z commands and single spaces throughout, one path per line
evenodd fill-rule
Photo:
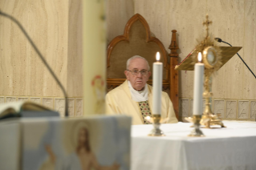
M 152 115 L 152 87 L 147 84 L 151 75 L 148 61 L 139 55 L 127 61 L 124 71 L 127 80 L 106 95 L 108 115 L 130 115 L 132 124 L 147 124 Z M 167 93 L 162 92 L 161 117 L 166 123 L 177 123 L 173 103 Z

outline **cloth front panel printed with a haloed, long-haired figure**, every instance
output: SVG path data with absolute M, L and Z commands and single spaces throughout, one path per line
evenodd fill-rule
M 131 119 L 120 118 L 26 124 L 22 169 L 128 170 Z

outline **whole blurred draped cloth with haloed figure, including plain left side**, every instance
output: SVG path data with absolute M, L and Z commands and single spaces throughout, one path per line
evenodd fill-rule
M 0 169 L 128 170 L 131 122 L 128 116 L 104 115 L 4 120 Z

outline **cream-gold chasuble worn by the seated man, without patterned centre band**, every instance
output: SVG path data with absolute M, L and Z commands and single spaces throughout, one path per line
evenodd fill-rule
M 169 95 L 162 91 L 161 100 L 162 119 L 166 119 L 166 123 L 177 123 L 177 118 L 173 110 L 173 103 L 169 99 Z M 148 105 L 149 111 L 152 111 L 152 86 L 149 85 Z M 106 112 L 108 115 L 132 116 L 132 124 L 144 124 L 143 115 L 140 111 L 140 104 L 139 102 L 132 100 L 127 80 L 119 87 L 109 91 L 106 95 Z

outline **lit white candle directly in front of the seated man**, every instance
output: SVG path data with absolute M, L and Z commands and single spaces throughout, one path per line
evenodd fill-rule
M 156 53 L 156 62 L 153 63 L 153 103 L 152 114 L 161 115 L 161 95 L 162 95 L 162 77 L 163 63 L 160 61 L 160 53 Z

